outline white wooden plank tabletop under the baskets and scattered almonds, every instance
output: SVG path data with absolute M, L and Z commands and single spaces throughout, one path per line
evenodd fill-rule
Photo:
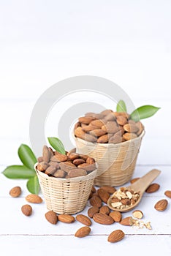
M 158 167 L 158 166 L 155 166 Z M 153 166 L 137 166 L 134 177 L 144 175 Z M 1 166 L 1 170 L 4 166 Z M 137 207 L 144 213 L 143 220 L 150 221 L 152 230 L 138 227 L 126 227 L 118 223 L 99 225 L 93 222 L 91 233 L 86 238 L 75 238 L 74 234 L 83 225 L 80 222 L 51 225 L 45 219 L 45 202 L 32 205 L 33 214 L 25 217 L 20 208 L 26 203 L 26 181 L 9 180 L 0 176 L 0 248 L 1 255 L 104 255 L 110 253 L 127 255 L 170 255 L 171 253 L 171 200 L 166 211 L 154 209 L 157 200 L 166 198 L 164 191 L 170 189 L 170 166 L 159 166 L 161 175 L 156 179 L 161 187 L 153 194 L 145 193 Z M 20 186 L 23 193 L 18 198 L 9 196 L 9 189 Z M 87 214 L 88 206 L 83 211 Z M 126 213 L 123 216 L 130 216 Z M 122 229 L 126 234 L 123 241 L 115 244 L 107 242 L 107 236 L 115 229 Z M 132 250 L 132 252 L 131 252 Z

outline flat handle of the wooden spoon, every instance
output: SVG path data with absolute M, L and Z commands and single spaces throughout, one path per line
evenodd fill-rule
M 141 193 L 143 193 L 151 184 L 151 182 L 155 180 L 157 176 L 159 176 L 160 173 L 161 173 L 161 170 L 157 170 L 157 169 L 150 170 L 148 173 L 145 174 L 145 176 L 142 176 L 142 178 L 137 180 L 130 187 L 135 191 L 140 191 Z

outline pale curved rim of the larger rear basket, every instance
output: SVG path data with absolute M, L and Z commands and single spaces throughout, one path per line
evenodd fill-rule
M 78 140 L 78 141 L 80 140 L 80 142 L 82 142 L 83 144 L 87 144 L 88 146 L 94 146 L 94 145 L 98 144 L 98 145 L 101 145 L 101 146 L 104 146 L 104 147 L 113 147 L 113 148 L 120 147 L 121 145 L 124 146 L 124 145 L 129 144 L 133 141 L 140 140 L 144 135 L 145 135 L 145 129 L 142 130 L 142 133 L 137 138 L 134 138 L 132 140 L 126 140 L 124 142 L 114 144 L 114 143 L 92 143 L 90 141 L 83 140 L 83 139 L 75 137 L 75 135 L 73 133 L 73 136 L 74 136 L 75 140 Z

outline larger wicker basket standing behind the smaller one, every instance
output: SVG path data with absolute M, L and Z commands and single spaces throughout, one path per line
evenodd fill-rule
M 130 181 L 144 134 L 143 131 L 139 137 L 118 144 L 90 143 L 75 138 L 77 152 L 96 159 L 97 173 L 102 173 L 95 178 L 96 186 L 121 186 Z

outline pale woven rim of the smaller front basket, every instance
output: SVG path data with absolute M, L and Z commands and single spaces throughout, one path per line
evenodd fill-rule
M 86 176 L 79 176 L 75 178 L 56 178 L 53 176 L 48 176 L 46 173 L 42 173 L 41 171 L 37 170 L 37 164 L 38 162 L 34 165 L 34 170 L 36 170 L 37 175 L 40 175 L 43 178 L 47 178 L 52 181 L 61 181 L 61 182 L 88 181 L 92 178 L 96 178 L 97 169 L 93 170 L 91 173 L 88 173 Z M 96 167 L 97 167 L 97 163 L 96 163 Z

